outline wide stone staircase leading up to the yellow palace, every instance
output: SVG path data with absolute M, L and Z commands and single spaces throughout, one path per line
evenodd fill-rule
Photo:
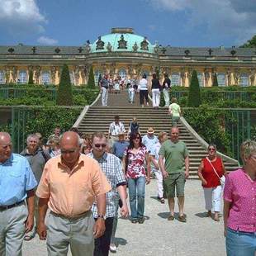
M 109 124 L 113 121 L 115 115 L 120 116 L 120 120 L 124 123 L 126 130 L 128 130 L 131 119 L 135 116 L 140 124 L 142 135 L 146 134 L 149 126 L 154 128 L 156 135 L 160 131 L 169 133 L 171 120 L 170 116 L 168 116 L 168 109 L 166 107 L 158 110 L 152 107 L 142 108 L 138 102 L 138 97 L 136 95 L 135 104 L 130 104 L 127 99 L 127 92 L 121 92 L 118 95 L 111 94 L 109 96 L 110 107 L 101 107 L 99 98 L 93 106 L 88 107 L 86 114 L 83 113 L 80 116 L 75 126 L 84 133 L 92 134 L 94 131 L 99 130 L 107 134 Z M 178 128 L 180 130 L 180 140 L 186 143 L 190 154 L 190 177 L 197 178 L 197 168 L 201 159 L 206 156 L 207 144 L 183 118 L 178 122 Z M 223 154 L 220 155 L 228 171 L 239 165 L 235 159 L 230 159 Z

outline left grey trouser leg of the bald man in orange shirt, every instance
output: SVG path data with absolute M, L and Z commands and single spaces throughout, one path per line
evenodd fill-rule
M 70 220 L 50 212 L 46 226 L 48 255 L 66 256 L 69 250 Z

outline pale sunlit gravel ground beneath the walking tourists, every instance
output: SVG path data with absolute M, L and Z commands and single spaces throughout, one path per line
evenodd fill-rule
M 153 180 L 146 187 L 145 216 L 148 220 L 145 220 L 144 224 L 131 224 L 130 220 L 119 219 L 116 255 L 225 255 L 222 218 L 220 222 L 215 222 L 204 217 L 204 198 L 199 181 L 188 180 L 186 184 L 187 223 L 178 220 L 168 221 L 168 206 L 160 204 L 155 199 L 155 191 L 156 183 Z M 23 254 L 47 255 L 45 242 L 36 236 L 35 239 L 24 243 Z

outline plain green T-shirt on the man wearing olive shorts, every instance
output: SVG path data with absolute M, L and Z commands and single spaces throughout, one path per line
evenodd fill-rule
M 185 171 L 184 159 L 188 156 L 186 144 L 178 140 L 173 143 L 172 140 L 166 140 L 162 144 L 159 155 L 165 159 L 164 167 L 167 173 L 183 173 Z

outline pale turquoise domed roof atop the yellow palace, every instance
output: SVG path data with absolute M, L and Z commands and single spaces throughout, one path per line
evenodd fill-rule
M 91 45 L 92 53 L 111 51 L 153 54 L 154 45 L 152 45 L 146 37 L 133 34 L 133 31 L 130 28 L 112 28 L 111 34 L 99 36 Z

